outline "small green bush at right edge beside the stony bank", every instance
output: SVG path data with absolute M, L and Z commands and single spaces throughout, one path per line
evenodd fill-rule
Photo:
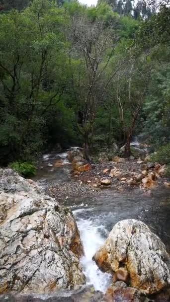
M 156 152 L 151 155 L 151 161 L 158 161 L 161 164 L 170 163 L 170 143 L 159 147 Z

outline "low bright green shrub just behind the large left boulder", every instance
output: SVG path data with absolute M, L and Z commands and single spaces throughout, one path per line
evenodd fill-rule
M 14 161 L 9 164 L 9 167 L 14 169 L 16 172 L 24 177 L 28 177 L 36 174 L 36 167 L 30 162 L 19 162 Z

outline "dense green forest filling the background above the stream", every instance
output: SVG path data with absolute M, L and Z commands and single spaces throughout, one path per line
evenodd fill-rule
M 170 159 L 170 6 L 0 0 L 0 163 L 126 144 Z M 161 148 L 161 149 L 160 149 Z

